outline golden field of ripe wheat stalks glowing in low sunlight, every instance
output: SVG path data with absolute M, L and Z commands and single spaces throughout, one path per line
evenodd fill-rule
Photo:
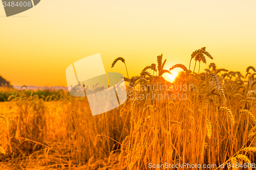
M 199 72 L 206 58 L 208 69 Z M 121 107 L 96 116 L 87 98 L 62 90 L 47 97 L 17 91 L 0 103 L 0 166 L 174 169 L 186 163 L 183 169 L 253 169 L 256 70 L 248 66 L 242 75 L 217 68 L 211 59 L 203 47 L 191 54 L 188 67 L 166 70 L 166 60 L 157 56 L 140 75 L 127 75 Z M 112 67 L 122 63 L 117 58 Z M 162 75 L 176 68 L 183 71 L 174 83 L 164 80 Z

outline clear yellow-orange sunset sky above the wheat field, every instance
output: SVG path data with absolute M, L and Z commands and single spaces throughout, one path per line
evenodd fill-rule
M 136 76 L 163 54 L 188 67 L 206 46 L 218 68 L 256 67 L 256 1 L 50 1 L 6 17 L 0 7 L 0 75 L 15 86 L 67 85 L 65 70 L 100 53 L 106 71 Z M 204 64 L 201 71 L 206 68 Z M 90 73 L 88 73 L 90 74 Z

